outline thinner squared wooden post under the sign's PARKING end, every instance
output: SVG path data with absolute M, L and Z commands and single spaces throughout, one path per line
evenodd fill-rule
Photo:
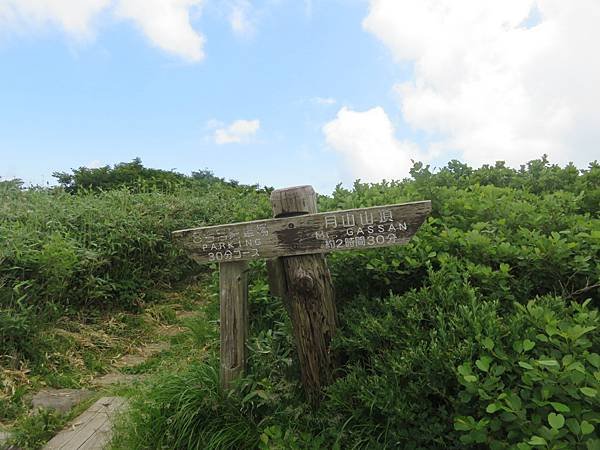
M 235 261 L 220 264 L 221 300 L 221 386 L 246 370 L 246 338 L 248 337 L 248 263 Z

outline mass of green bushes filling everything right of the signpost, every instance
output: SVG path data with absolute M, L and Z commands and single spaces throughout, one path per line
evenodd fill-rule
M 430 198 L 433 214 L 404 247 L 329 256 L 342 365 L 320 407 L 303 401 L 290 324 L 253 265 L 247 378 L 224 393 L 192 367 L 168 388 L 185 404 L 142 417 L 159 381 L 130 443 L 154 447 L 174 427 L 161 445 L 202 434 L 223 444 L 205 448 L 599 448 L 599 174 L 454 161 L 338 187 L 320 210 Z

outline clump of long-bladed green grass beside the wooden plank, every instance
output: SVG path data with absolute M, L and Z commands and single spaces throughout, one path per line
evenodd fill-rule
M 155 380 L 132 405 L 113 449 L 253 449 L 259 432 L 219 387 L 213 360 Z

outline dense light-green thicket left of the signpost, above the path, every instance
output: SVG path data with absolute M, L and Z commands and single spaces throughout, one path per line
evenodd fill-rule
M 25 351 L 40 319 L 65 308 L 135 308 L 150 288 L 181 279 L 193 266 L 172 231 L 268 214 L 264 192 L 220 181 L 76 195 L 3 183 L 0 353 Z

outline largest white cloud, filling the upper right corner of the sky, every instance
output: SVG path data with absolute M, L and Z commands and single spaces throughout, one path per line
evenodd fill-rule
M 446 151 L 584 165 L 600 146 L 598 23 L 597 0 L 371 0 L 363 26 L 412 63 L 403 119 Z

